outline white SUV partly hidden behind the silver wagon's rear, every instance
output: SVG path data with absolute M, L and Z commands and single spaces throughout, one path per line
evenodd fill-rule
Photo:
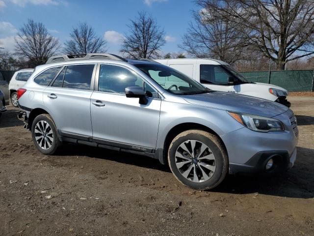
M 18 107 L 18 96 L 16 91 L 23 87 L 34 69 L 23 69 L 14 73 L 9 84 L 10 99 L 13 106 Z

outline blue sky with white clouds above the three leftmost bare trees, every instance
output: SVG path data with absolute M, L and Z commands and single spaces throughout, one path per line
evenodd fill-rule
M 0 47 L 12 52 L 14 37 L 28 19 L 43 23 L 61 44 L 73 27 L 86 22 L 107 40 L 107 52 L 120 54 L 130 19 L 146 11 L 165 31 L 161 51 L 181 52 L 178 45 L 195 9 L 192 0 L 0 0 Z

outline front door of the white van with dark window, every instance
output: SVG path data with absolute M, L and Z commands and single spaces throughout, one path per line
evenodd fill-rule
M 237 92 L 237 85 L 229 85 L 228 77 L 231 76 L 221 65 L 200 65 L 200 82 L 209 89 Z

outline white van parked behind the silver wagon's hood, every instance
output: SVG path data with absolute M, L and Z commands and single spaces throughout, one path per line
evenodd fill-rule
M 212 90 L 234 92 L 276 101 L 290 107 L 288 91 L 281 87 L 250 82 L 228 63 L 215 59 L 156 59 Z

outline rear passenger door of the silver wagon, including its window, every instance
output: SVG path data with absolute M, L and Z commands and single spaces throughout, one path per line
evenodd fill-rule
M 95 70 L 95 64 L 64 66 L 44 90 L 45 107 L 49 109 L 60 135 L 83 140 L 92 138 L 90 97 Z

